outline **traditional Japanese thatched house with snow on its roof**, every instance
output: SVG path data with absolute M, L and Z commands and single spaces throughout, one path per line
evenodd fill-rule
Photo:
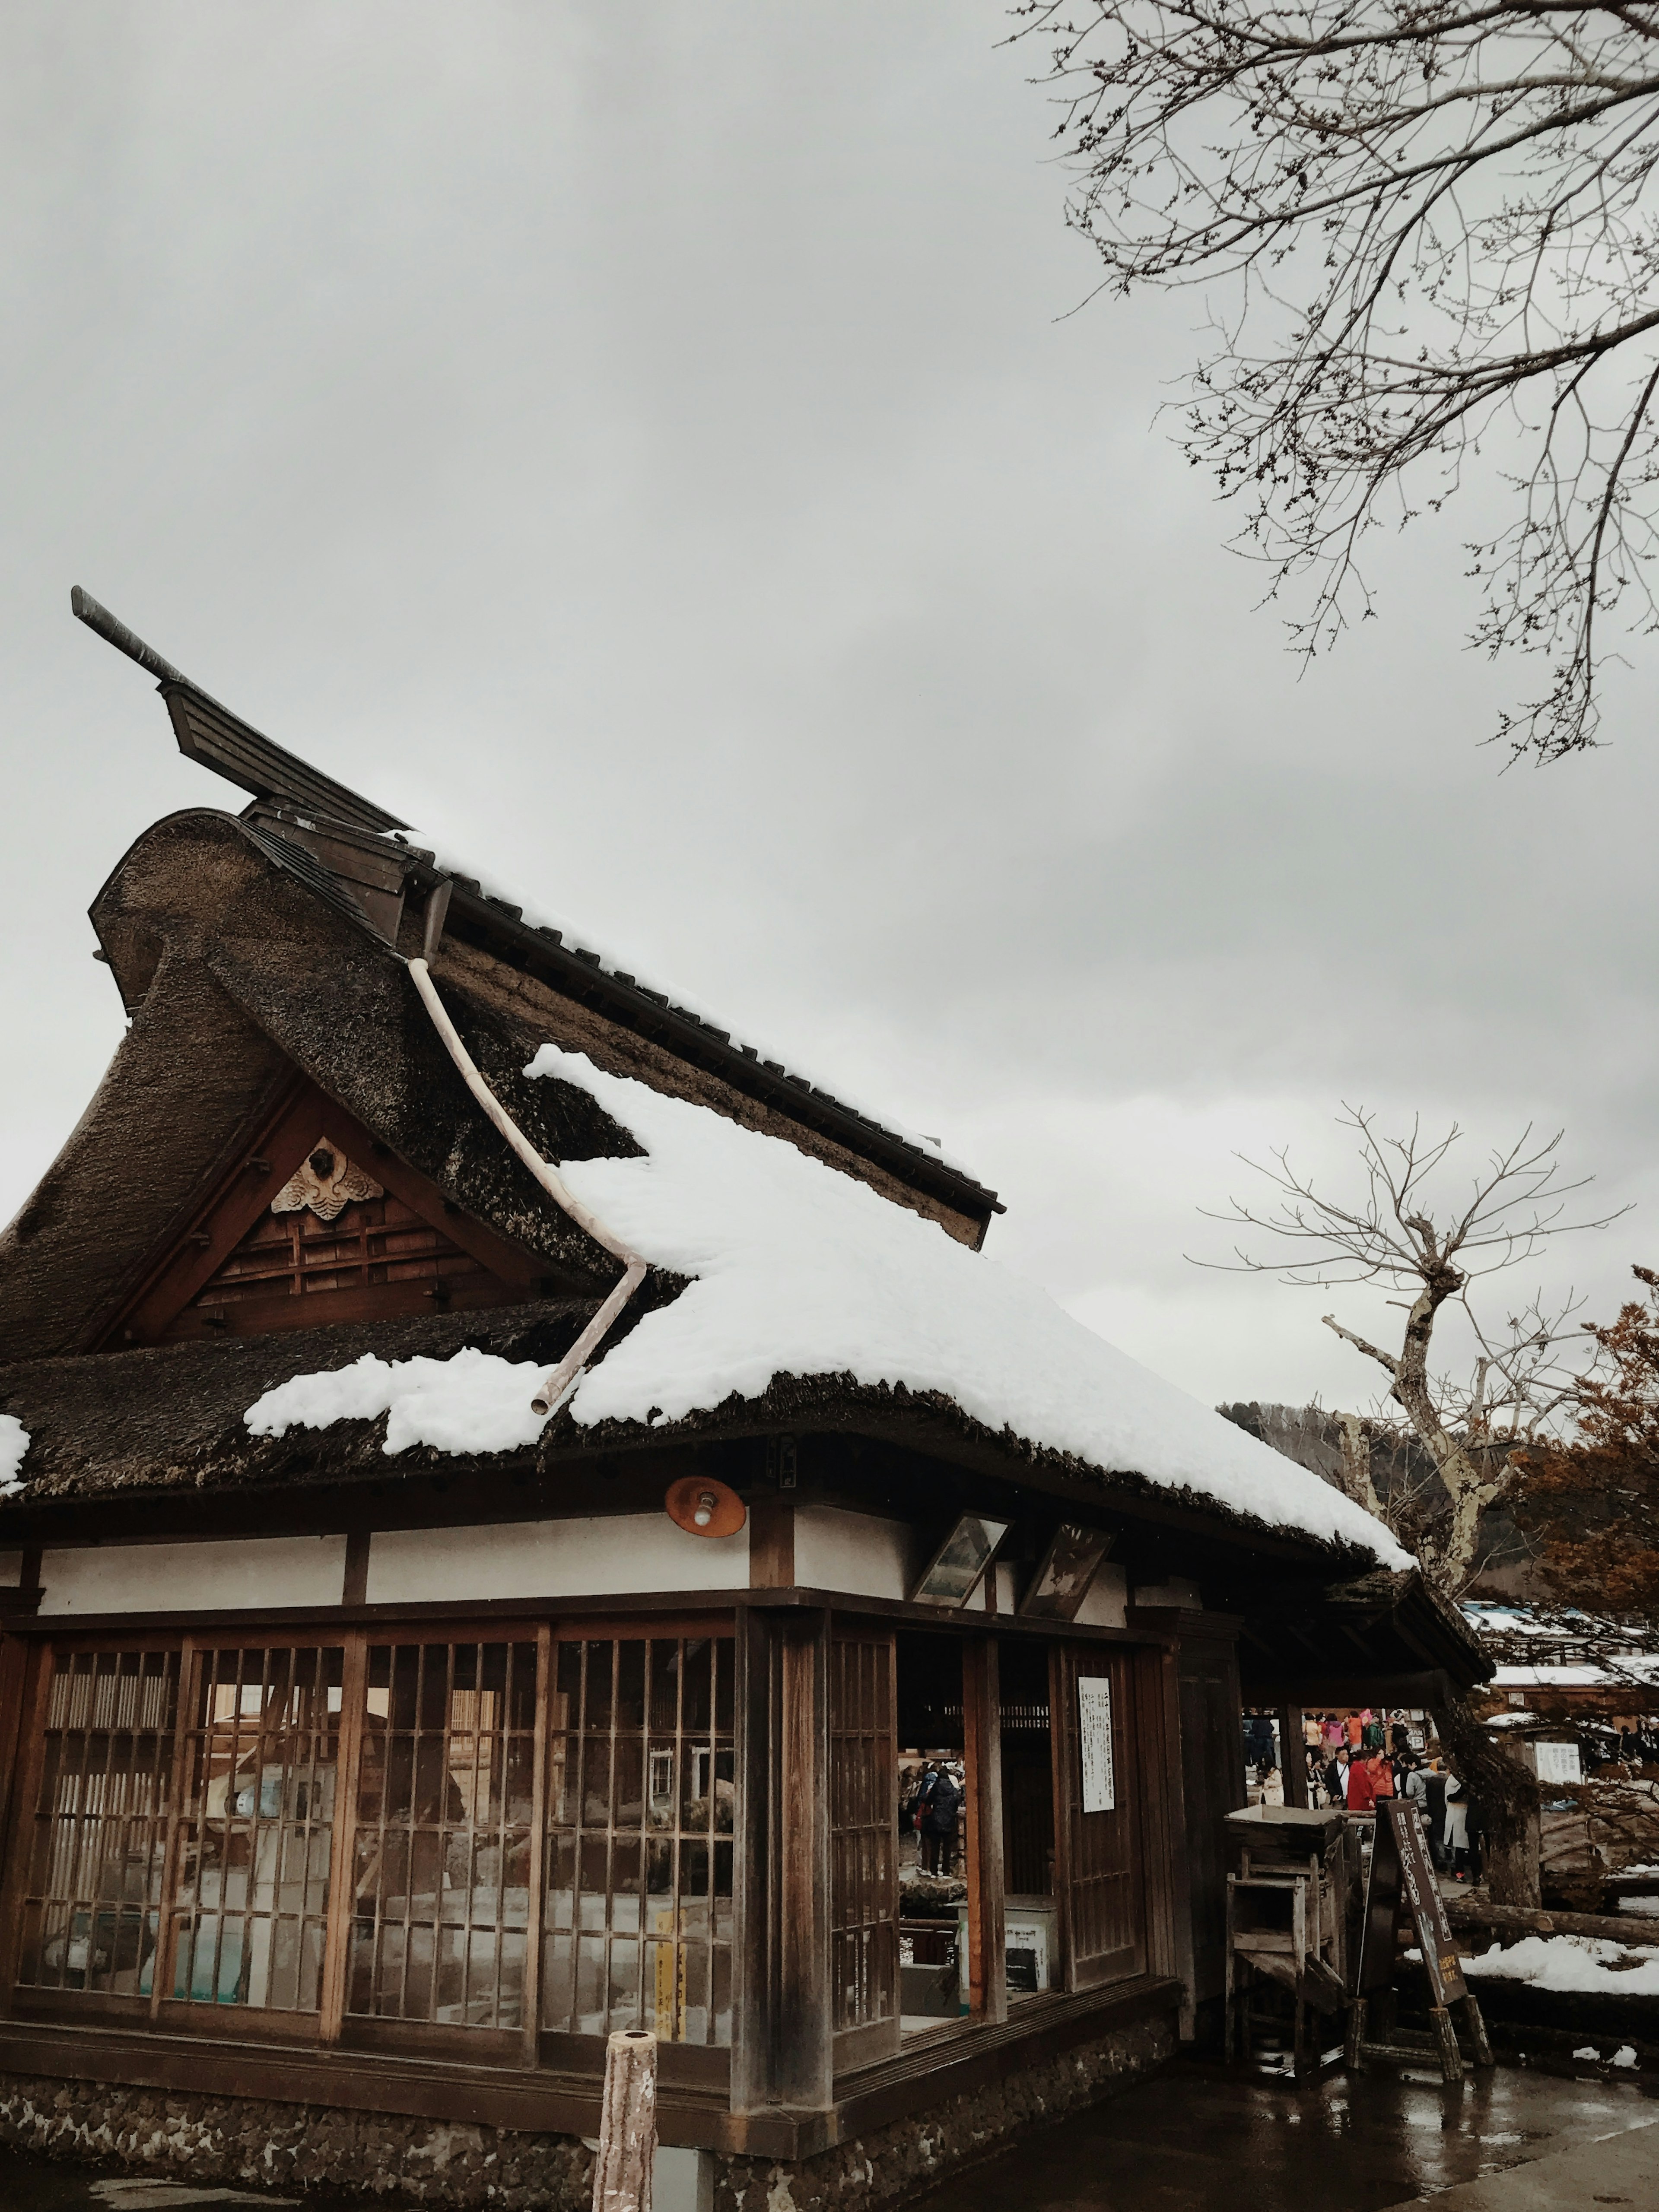
M 1157 2066 L 1241 1661 L 1420 1703 L 1464 1626 L 936 1148 L 148 666 L 252 803 L 97 894 L 131 1026 L 0 1241 L 7 2126 L 575 2205 L 644 2022 L 659 2212 L 805 2208 Z M 905 1752 L 962 1767 L 942 2004 Z

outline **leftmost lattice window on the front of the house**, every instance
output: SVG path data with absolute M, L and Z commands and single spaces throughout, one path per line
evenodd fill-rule
M 27 1843 L 24 1989 L 148 1993 L 177 1705 L 179 1652 L 60 1657 Z

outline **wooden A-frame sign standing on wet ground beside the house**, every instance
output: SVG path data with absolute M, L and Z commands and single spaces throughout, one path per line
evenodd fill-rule
M 1407 2042 L 1391 2026 L 1394 1975 L 1398 1971 L 1398 1936 L 1407 1924 L 1416 1936 L 1422 1966 L 1429 1975 L 1429 2020 L 1433 2042 Z M 1451 1940 L 1451 1922 L 1433 1878 L 1429 1845 L 1422 1834 L 1422 1814 L 1400 1798 L 1383 1798 L 1376 1807 L 1376 1838 L 1371 1843 L 1371 1876 L 1365 1885 L 1365 1931 L 1360 1936 L 1360 1971 L 1347 2024 L 1347 2064 L 1360 2068 L 1367 2057 L 1422 2059 L 1436 2055 L 1447 2081 L 1462 2079 L 1462 2051 L 1451 2008 L 1462 2011 L 1469 2033 L 1469 2048 L 1475 2066 L 1491 2066 L 1491 2044 L 1486 2024 L 1480 2017 L 1480 2002 L 1462 1978 L 1458 1947 Z M 1371 2008 L 1389 2017 L 1389 2035 L 1383 2042 L 1367 2042 L 1365 2028 Z

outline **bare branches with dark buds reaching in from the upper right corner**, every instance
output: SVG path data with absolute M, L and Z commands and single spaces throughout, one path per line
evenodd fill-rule
M 1298 646 L 1371 613 L 1365 533 L 1498 456 L 1473 641 L 1544 659 L 1500 734 L 1595 741 L 1601 624 L 1650 630 L 1659 4 L 1022 0 L 1104 285 L 1214 285 L 1183 447 Z

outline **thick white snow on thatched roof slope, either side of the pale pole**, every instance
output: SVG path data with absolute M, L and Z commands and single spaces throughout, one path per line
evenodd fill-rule
M 584 1374 L 566 1400 L 577 1422 L 661 1427 L 732 1396 L 759 1398 L 774 1376 L 852 1376 L 938 1391 L 995 1433 L 1104 1473 L 1139 1473 L 1270 1526 L 1358 1544 L 1389 1568 L 1413 1564 L 1332 1484 L 1117 1352 L 1035 1283 L 854 1177 L 555 1044 L 524 1073 L 575 1084 L 637 1137 L 641 1157 L 564 1161 L 560 1172 L 635 1252 L 690 1279 Z M 498 1451 L 520 1433 L 484 1438 L 524 1420 L 533 1380 L 480 1352 L 394 1367 L 361 1360 L 281 1385 L 246 1420 L 281 1433 L 396 1405 L 400 1444 L 387 1436 L 387 1451 L 405 1442 Z

